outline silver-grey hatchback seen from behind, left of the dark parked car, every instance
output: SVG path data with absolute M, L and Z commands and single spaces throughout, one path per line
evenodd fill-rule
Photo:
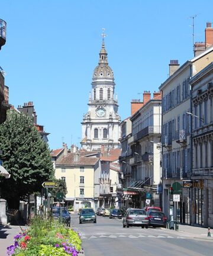
M 123 228 L 129 228 L 130 226 L 141 226 L 141 228 L 148 228 L 149 219 L 145 210 L 130 208 L 125 213 L 122 223 Z

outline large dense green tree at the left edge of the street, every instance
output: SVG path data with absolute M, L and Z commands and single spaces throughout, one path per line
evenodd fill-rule
M 1 159 L 11 177 L 0 182 L 2 197 L 11 209 L 21 200 L 41 191 L 41 184 L 54 178 L 47 143 L 25 114 L 12 110 L 0 125 Z

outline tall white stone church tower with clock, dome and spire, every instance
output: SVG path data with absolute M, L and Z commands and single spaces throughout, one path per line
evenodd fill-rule
M 88 112 L 82 121 L 82 149 L 99 150 L 117 148 L 120 142 L 120 116 L 115 95 L 114 73 L 108 65 L 104 37 L 99 62 L 93 71 L 92 93 L 89 95 Z

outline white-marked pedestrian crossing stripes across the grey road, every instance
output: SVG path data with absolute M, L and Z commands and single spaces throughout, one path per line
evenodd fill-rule
M 81 239 L 97 239 L 97 238 L 175 238 L 175 239 L 185 239 L 184 236 L 170 236 L 170 235 L 146 235 L 146 234 L 94 234 L 94 235 L 86 235 L 86 234 L 82 234 Z

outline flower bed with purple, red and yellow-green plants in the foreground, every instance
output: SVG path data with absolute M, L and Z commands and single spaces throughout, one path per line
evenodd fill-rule
M 78 232 L 62 223 L 35 217 L 29 229 L 14 236 L 14 244 L 7 248 L 8 256 L 78 256 L 81 251 Z

